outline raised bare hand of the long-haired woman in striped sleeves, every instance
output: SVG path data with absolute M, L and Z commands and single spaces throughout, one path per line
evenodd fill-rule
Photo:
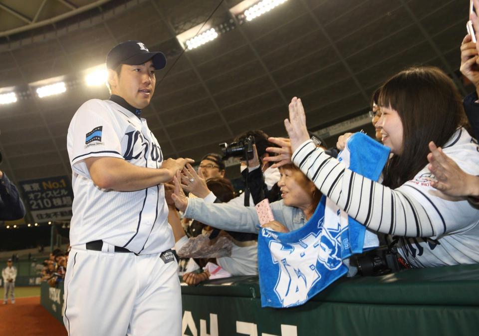
M 284 119 L 284 127 L 291 141 L 291 151 L 294 151 L 303 142 L 309 140 L 306 128 L 306 114 L 301 99 L 293 97 L 289 103 L 289 119 Z

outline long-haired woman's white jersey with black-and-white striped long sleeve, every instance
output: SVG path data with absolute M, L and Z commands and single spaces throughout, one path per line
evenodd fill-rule
M 479 175 L 478 145 L 464 128 L 443 150 L 464 171 Z M 479 210 L 465 198 L 431 187 L 429 178 L 434 176 L 427 166 L 393 190 L 346 169 L 310 140 L 298 147 L 292 160 L 324 195 L 367 228 L 411 237 L 401 240 L 399 250 L 413 266 L 479 262 Z

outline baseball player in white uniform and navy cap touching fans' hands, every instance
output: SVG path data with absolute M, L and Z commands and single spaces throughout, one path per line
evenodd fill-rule
M 63 321 L 70 336 L 179 336 L 180 282 L 163 183 L 193 160 L 164 161 L 141 118 L 166 58 L 127 41 L 106 64 L 110 99 L 85 102 L 68 128 L 74 200 Z

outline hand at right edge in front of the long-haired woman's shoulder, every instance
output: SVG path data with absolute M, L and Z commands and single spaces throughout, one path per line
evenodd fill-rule
M 454 160 L 444 154 L 441 147 L 429 143 L 428 169 L 437 181 L 431 180 L 431 186 L 449 196 L 479 196 L 479 177 L 462 170 Z

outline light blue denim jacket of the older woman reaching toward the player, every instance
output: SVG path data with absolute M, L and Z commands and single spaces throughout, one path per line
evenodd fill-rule
M 301 209 L 284 205 L 283 200 L 270 204 L 274 219 L 289 231 L 301 228 L 306 219 Z M 193 218 L 214 228 L 237 232 L 259 232 L 259 219 L 254 207 L 227 203 L 205 203 L 201 198 L 188 199 L 185 217 Z

